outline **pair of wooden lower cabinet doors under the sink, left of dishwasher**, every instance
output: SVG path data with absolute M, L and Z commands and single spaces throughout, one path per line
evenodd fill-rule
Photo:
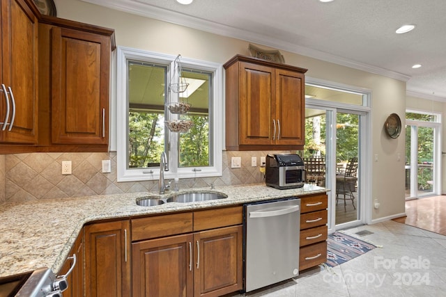
M 133 296 L 222 296 L 243 288 L 243 227 L 132 243 Z

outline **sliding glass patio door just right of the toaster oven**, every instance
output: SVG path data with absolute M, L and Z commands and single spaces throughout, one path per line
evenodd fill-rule
M 310 104 L 305 109 L 305 150 L 300 155 L 308 164 L 314 160 L 325 164 L 323 178 L 307 170 L 307 182 L 331 190 L 330 229 L 334 229 L 333 224 L 341 228 L 363 223 L 359 166 L 362 115 Z

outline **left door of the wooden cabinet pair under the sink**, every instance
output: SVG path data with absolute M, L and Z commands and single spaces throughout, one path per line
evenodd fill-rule
M 134 297 L 193 294 L 192 234 L 132 243 Z

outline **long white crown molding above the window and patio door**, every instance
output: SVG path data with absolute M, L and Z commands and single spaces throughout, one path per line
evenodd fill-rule
M 151 6 L 148 3 L 143 3 L 141 1 L 134 1 L 134 0 L 114 0 L 114 1 L 82 0 L 82 1 L 97 4 L 100 6 L 105 6 L 108 8 L 112 8 L 114 10 L 121 10 L 126 13 L 131 13 L 134 15 L 140 15 L 142 17 L 150 17 L 152 19 L 157 19 L 162 22 L 169 22 L 171 24 L 186 26 L 192 29 L 205 31 L 208 33 L 223 35 L 230 38 L 237 38 L 240 40 L 245 40 L 247 42 L 254 42 L 258 45 L 265 45 L 267 47 L 273 47 L 276 49 L 290 51 L 291 53 L 294 54 L 308 56 L 309 58 L 315 58 L 321 61 L 330 62 L 346 67 L 351 67 L 357 70 L 362 70 L 365 72 L 382 75 L 384 77 L 398 79 L 400 81 L 408 81 L 410 79 L 410 76 L 406 74 L 401 74 L 399 72 L 393 72 L 373 65 L 352 61 L 349 60 L 348 58 L 342 58 L 340 56 L 335 56 L 323 51 L 318 51 L 316 49 L 309 49 L 307 47 L 302 47 L 295 43 L 286 42 L 278 38 L 273 38 L 259 33 L 238 29 L 232 26 L 226 26 L 224 24 L 210 22 L 206 19 L 199 19 L 197 17 L 184 15 L 182 13 L 166 10 L 164 8 L 160 8 L 157 6 Z

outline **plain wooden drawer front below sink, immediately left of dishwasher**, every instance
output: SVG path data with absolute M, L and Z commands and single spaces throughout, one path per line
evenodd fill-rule
M 243 207 L 194 211 L 194 231 L 215 229 L 243 223 Z

